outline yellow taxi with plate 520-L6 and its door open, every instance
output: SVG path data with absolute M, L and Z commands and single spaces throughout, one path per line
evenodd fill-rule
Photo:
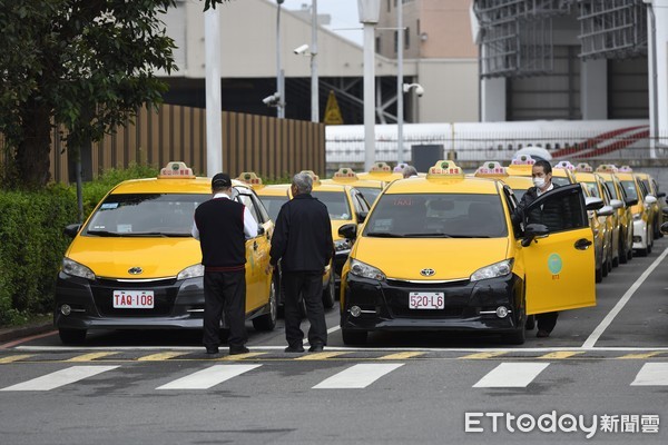
M 390 184 L 361 233 L 340 229 L 356 238 L 341 281 L 344 343 L 379 330 L 484 330 L 522 344 L 528 315 L 595 305 L 581 187 L 542 195 L 527 215 L 541 206 L 568 206 L 569 218 L 513 224 L 517 199 L 503 182 L 448 160 Z

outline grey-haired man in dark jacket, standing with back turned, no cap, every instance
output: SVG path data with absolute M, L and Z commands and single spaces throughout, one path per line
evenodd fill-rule
M 306 315 L 311 323 L 308 350 L 322 352 L 327 344 L 323 274 L 334 255 L 334 241 L 327 207 L 311 196 L 312 188 L 313 178 L 310 175 L 297 174 L 293 177 L 293 199 L 281 207 L 272 238 L 269 268 L 276 267 L 279 259 L 282 261 L 286 353 L 304 352 L 299 295 L 306 303 Z

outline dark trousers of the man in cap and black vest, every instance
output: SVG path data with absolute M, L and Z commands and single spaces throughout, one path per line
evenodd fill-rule
M 220 344 L 220 315 L 229 328 L 227 344 L 244 346 L 246 334 L 246 270 L 204 273 L 204 346 Z

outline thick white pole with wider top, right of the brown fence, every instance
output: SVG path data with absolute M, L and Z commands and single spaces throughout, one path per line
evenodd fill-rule
M 375 36 L 381 0 L 357 0 L 360 22 L 364 24 L 364 169 L 375 161 Z

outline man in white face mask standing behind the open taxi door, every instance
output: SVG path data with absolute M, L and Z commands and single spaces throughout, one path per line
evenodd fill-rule
M 524 196 L 522 196 L 522 200 L 513 214 L 513 222 L 519 224 L 525 217 L 527 224 L 543 224 L 548 226 L 550 231 L 562 230 L 570 221 L 570 211 L 562 205 L 546 204 L 525 214 L 527 207 L 538 199 L 538 197 L 559 187 L 559 185 L 552 184 L 552 166 L 550 162 L 542 159 L 537 160 L 531 169 L 531 178 L 533 179 L 534 187 L 529 188 Z M 540 338 L 549 337 L 557 325 L 558 316 L 558 312 L 537 314 L 538 333 L 536 336 Z

